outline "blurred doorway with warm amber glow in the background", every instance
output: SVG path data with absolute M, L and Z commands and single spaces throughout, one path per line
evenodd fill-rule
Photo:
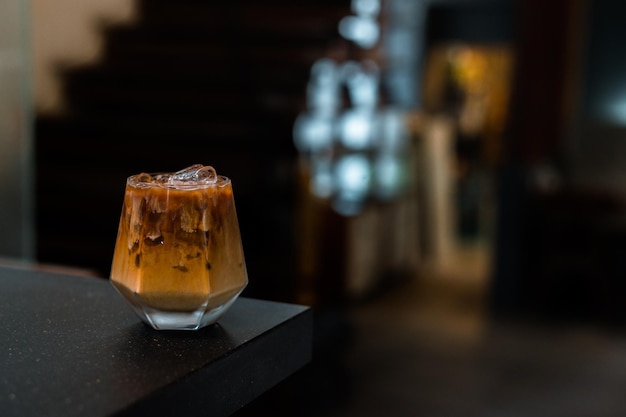
M 512 2 L 431 3 L 422 111 L 445 117 L 453 253 L 443 275 L 486 286 L 494 262 L 497 169 L 515 65 Z

